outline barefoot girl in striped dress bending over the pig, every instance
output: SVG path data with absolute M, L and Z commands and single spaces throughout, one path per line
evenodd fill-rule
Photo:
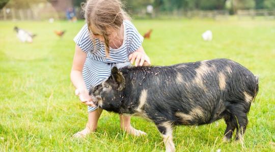
M 87 24 L 74 37 L 71 81 L 80 101 L 88 105 L 89 114 L 86 128 L 74 137 L 85 137 L 97 128 L 102 109 L 93 104 L 88 91 L 90 86 L 108 78 L 113 66 L 121 68 L 133 62 L 135 66 L 150 64 L 142 47 L 143 37 L 130 22 L 119 0 L 88 0 L 84 10 Z M 129 116 L 121 115 L 120 122 L 121 129 L 129 134 L 146 134 L 131 127 Z

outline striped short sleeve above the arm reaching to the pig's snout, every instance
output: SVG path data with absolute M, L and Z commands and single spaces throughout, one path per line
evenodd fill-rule
M 94 50 L 93 41 L 90 38 L 90 33 L 88 30 L 88 25 L 85 24 L 81 30 L 74 37 L 73 41 L 75 44 L 85 53 Z

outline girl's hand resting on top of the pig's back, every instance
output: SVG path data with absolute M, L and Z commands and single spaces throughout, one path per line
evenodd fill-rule
M 129 60 L 131 61 L 131 64 L 133 64 L 134 62 L 134 66 L 143 66 L 143 64 L 145 62 L 147 62 L 148 64 L 146 65 L 150 65 L 151 62 L 150 62 L 150 58 L 142 53 L 142 52 L 133 52 L 132 54 L 129 55 Z

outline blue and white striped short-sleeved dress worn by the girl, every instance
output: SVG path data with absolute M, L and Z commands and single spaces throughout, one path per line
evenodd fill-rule
M 86 88 L 96 86 L 111 75 L 113 66 L 118 68 L 130 65 L 129 54 L 135 52 L 142 46 L 143 36 L 136 30 L 134 25 L 128 21 L 123 21 L 124 39 L 123 44 L 118 49 L 109 50 L 109 58 L 106 58 L 105 45 L 99 39 L 95 39 L 95 45 L 90 38 L 88 25 L 85 24 L 74 37 L 74 42 L 82 51 L 87 53 L 82 75 Z M 88 112 L 97 107 L 88 106 Z

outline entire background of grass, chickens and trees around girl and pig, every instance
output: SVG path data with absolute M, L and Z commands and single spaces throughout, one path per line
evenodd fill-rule
M 74 95 L 73 37 L 85 24 L 75 0 L 0 0 L 0 151 L 161 151 L 153 123 L 133 117 L 148 136 L 120 130 L 103 111 L 97 133 L 77 141 L 87 107 Z M 275 151 L 275 0 L 123 1 L 153 65 L 229 58 L 260 77 L 244 146 L 223 143 L 223 120 L 174 132 L 178 151 Z

